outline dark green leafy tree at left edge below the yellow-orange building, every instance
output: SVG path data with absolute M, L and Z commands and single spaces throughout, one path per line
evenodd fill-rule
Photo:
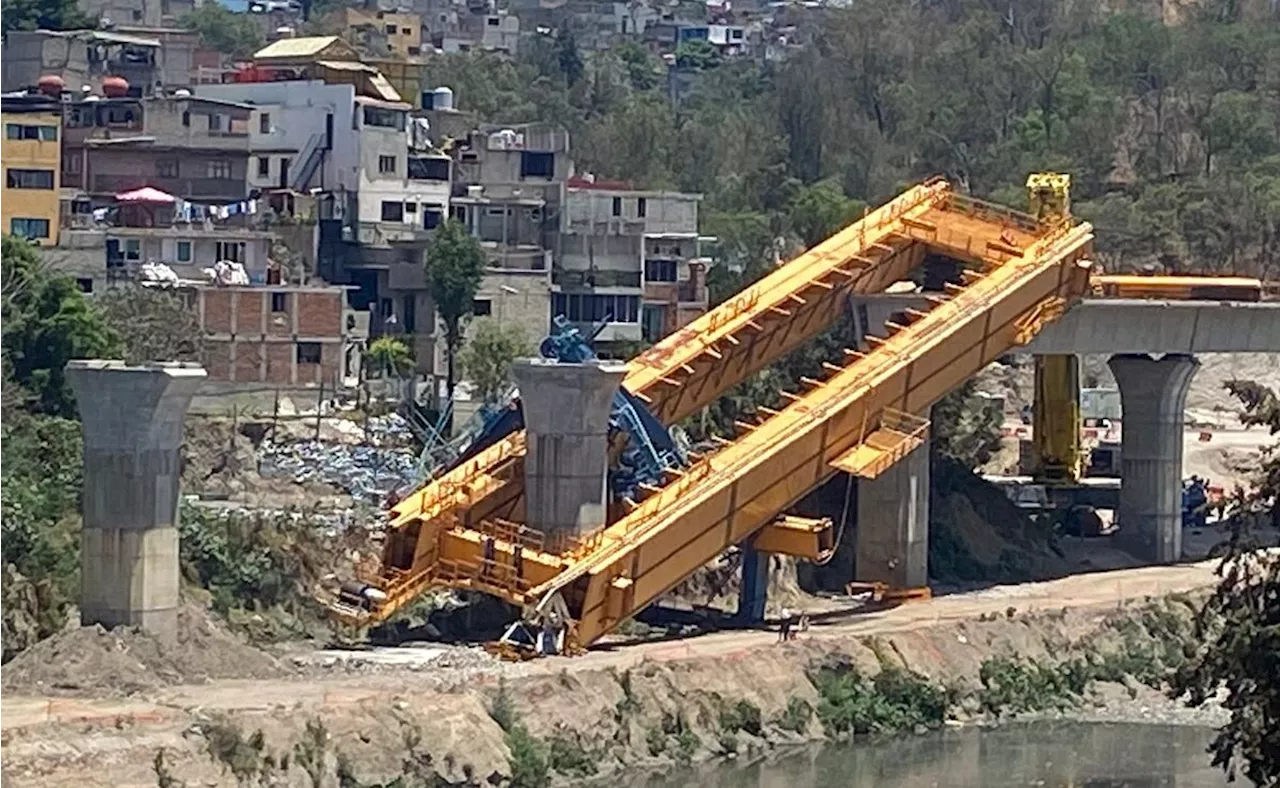
M 31 409 L 74 417 L 63 367 L 118 351 L 115 333 L 73 280 L 42 269 L 27 243 L 0 235 L 0 356 L 31 394 Z

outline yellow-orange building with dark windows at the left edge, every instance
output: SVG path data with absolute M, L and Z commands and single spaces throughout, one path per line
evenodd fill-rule
M 63 114 L 44 96 L 0 98 L 0 233 L 58 243 Z

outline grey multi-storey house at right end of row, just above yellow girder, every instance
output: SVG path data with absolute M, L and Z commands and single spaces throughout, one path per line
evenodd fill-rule
M 698 257 L 701 194 L 632 189 L 571 178 L 564 184 L 552 313 L 596 343 L 655 342 L 707 311 Z M 603 324 L 603 326 L 602 326 Z

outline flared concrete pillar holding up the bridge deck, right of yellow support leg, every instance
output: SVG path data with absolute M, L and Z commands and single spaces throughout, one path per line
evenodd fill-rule
M 1193 356 L 1112 356 L 1120 386 L 1117 544 L 1157 564 L 1183 556 L 1183 411 L 1199 368 Z

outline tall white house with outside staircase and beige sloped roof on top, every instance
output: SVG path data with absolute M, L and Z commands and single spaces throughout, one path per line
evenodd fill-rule
M 430 371 L 434 311 L 422 252 L 448 216 L 453 161 L 380 72 L 328 59 L 343 56 L 344 46 L 333 38 L 276 42 L 241 82 L 196 90 L 253 105 L 250 184 L 264 193 L 315 193 L 316 272 L 355 287 L 351 303 L 372 312 L 375 334 L 412 335 Z

